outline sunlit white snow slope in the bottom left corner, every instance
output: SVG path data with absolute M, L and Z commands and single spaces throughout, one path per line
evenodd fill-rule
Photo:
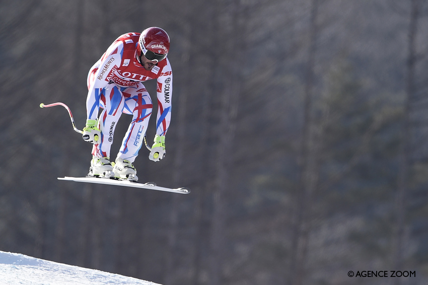
M 157 285 L 118 274 L 0 251 L 2 285 Z M 159 285 L 159 284 L 158 284 Z

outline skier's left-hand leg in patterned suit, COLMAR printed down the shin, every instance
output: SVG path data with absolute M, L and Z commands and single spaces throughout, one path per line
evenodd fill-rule
M 98 120 L 101 131 L 101 142 L 94 145 L 92 155 L 94 157 L 110 157 L 110 148 L 113 143 L 113 134 L 117 121 L 122 114 L 124 97 L 119 88 L 110 84 L 103 89 L 100 106 L 103 108 Z

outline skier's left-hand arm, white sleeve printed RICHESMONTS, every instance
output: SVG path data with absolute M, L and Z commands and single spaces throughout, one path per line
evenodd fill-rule
M 116 68 L 122 60 L 123 43 L 114 42 L 103 54 L 100 60 L 92 66 L 88 74 L 88 97 L 86 98 L 86 112 L 88 120 L 98 117 L 101 91 L 107 86 Z

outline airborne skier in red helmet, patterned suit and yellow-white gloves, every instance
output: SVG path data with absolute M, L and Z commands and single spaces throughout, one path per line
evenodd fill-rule
M 92 66 L 88 74 L 87 121 L 83 139 L 94 144 L 90 176 L 104 176 L 137 181 L 132 165 L 143 144 L 152 100 L 142 82 L 157 79 L 158 112 L 156 135 L 149 159 L 165 156 L 165 134 L 171 118 L 172 69 L 167 54 L 168 34 L 151 27 L 139 33 L 117 38 Z M 99 108 L 103 108 L 99 118 Z M 122 113 L 132 121 L 122 141 L 115 162 L 110 162 L 110 148 L 117 121 Z

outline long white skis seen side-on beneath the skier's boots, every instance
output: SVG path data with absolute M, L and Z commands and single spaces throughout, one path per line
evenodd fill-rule
M 129 180 L 116 180 L 109 178 L 100 178 L 100 177 L 58 177 L 58 180 L 68 180 L 68 181 L 76 181 L 76 182 L 87 182 L 87 183 L 96 183 L 96 184 L 106 184 L 106 185 L 117 185 L 117 186 L 125 186 L 125 187 L 133 187 L 133 188 L 144 188 L 150 190 L 157 191 L 166 191 L 180 194 L 188 194 L 190 193 L 189 188 L 167 188 L 157 186 L 154 182 L 148 183 L 139 183 L 133 182 Z

